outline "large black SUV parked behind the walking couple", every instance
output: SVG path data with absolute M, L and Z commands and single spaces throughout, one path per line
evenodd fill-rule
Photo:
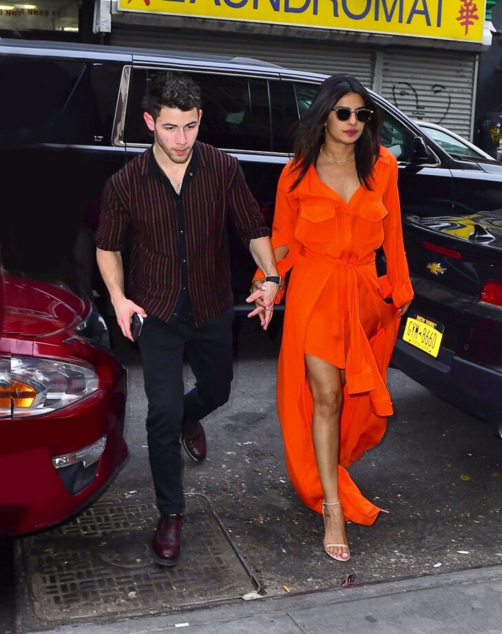
M 69 223 L 67 243 L 76 242 L 76 264 L 90 274 L 103 185 L 151 143 L 143 122 L 145 88 L 153 74 L 166 70 L 185 72 L 200 84 L 200 141 L 239 159 L 271 221 L 278 176 L 291 157 L 291 125 L 310 105 L 324 75 L 239 57 L 3 39 L 0 142 L 10 165 L 3 176 L 13 223 L 3 258 L 11 267 L 23 249 L 38 265 L 54 259 L 52 234 L 61 233 L 60 223 Z M 502 163 L 452 158 L 408 116 L 374 96 L 384 121 L 382 142 L 399 161 L 405 213 L 439 216 L 502 207 Z M 29 218 L 17 213 L 19 196 L 30 201 Z M 253 264 L 235 240 L 231 254 L 239 307 Z

